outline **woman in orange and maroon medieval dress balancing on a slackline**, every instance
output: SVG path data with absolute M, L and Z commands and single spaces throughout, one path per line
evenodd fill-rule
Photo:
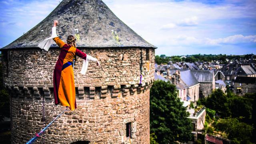
M 58 21 L 54 20 L 54 27 L 56 28 L 57 25 Z M 97 66 L 100 66 L 100 63 L 96 58 L 78 50 L 76 48 L 76 39 L 72 35 L 68 36 L 67 44 L 57 35 L 53 40 L 61 48 L 53 74 L 55 104 L 68 106 L 70 107 L 70 110 L 74 110 L 76 108 L 76 91 L 74 84 L 74 72 L 72 68 L 72 60 L 74 56 L 79 56 L 87 61 L 96 61 Z

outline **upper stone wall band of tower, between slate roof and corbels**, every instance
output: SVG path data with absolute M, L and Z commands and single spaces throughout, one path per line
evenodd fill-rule
M 82 58 L 78 58 L 74 68 L 76 87 L 139 84 L 140 48 L 87 48 L 82 51 L 98 58 L 102 70 L 96 66 L 96 62 L 90 62 L 84 76 L 80 74 L 83 61 Z M 53 70 L 59 53 L 59 49 L 48 52 L 38 49 L 9 50 L 3 62 L 4 84 L 52 88 Z M 144 85 L 154 80 L 154 49 L 150 49 L 149 60 L 146 60 L 146 49 L 142 49 L 142 58 L 142 84 Z

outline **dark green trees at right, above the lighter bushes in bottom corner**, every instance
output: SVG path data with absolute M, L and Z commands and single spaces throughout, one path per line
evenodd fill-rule
M 205 106 L 216 111 L 221 118 L 240 118 L 243 122 L 252 123 L 253 94 L 247 94 L 248 98 L 234 95 L 231 91 L 224 94 L 222 90 L 216 89 L 206 98 Z M 198 100 L 201 103 L 204 99 Z M 213 118 L 213 113 L 206 108 L 206 113 Z

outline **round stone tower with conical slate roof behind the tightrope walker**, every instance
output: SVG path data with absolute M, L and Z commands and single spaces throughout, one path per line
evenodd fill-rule
M 65 112 L 36 143 L 149 144 L 149 95 L 154 80 L 154 50 L 101 0 L 63 0 L 42 22 L 1 49 L 4 85 L 10 92 L 12 143 L 25 143 L 63 110 L 54 105 L 53 70 L 60 48 L 37 48 L 51 35 L 100 60 L 80 74 L 74 68 L 77 109 Z M 140 83 L 140 75 L 142 82 Z

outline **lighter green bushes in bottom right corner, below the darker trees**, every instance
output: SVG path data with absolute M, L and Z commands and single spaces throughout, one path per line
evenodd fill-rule
M 228 139 L 238 144 L 249 144 L 252 137 L 252 126 L 239 122 L 236 118 L 222 119 L 216 128 L 228 134 Z

